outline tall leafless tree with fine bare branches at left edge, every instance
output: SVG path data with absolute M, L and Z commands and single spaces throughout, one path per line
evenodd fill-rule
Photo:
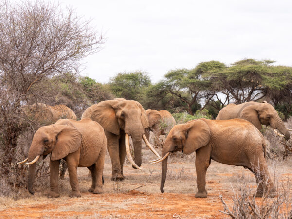
M 0 165 L 9 173 L 23 129 L 21 105 L 41 98 L 36 88 L 45 78 L 78 75 L 82 58 L 97 52 L 103 38 L 90 21 L 54 3 L 7 0 L 0 7 Z

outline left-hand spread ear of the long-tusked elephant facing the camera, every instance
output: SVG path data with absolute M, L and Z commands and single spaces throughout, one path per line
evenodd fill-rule
M 106 100 L 95 105 L 91 112 L 91 119 L 98 122 L 105 130 L 119 135 L 120 126 L 116 117 L 114 105 L 119 103 L 118 100 Z

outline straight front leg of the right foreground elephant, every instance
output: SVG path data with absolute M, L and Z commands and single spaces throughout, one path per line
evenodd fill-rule
M 197 198 L 206 198 L 206 172 L 210 165 L 211 146 L 204 146 L 196 150 L 196 172 L 198 192 Z

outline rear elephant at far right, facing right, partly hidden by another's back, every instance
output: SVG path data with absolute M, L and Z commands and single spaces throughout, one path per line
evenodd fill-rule
M 261 125 L 270 125 L 277 135 L 285 136 L 286 140 L 289 140 L 290 133 L 285 127 L 284 122 L 279 117 L 274 107 L 264 101 L 258 103 L 254 101 L 242 103 L 242 104 L 228 104 L 221 109 L 218 113 L 217 120 L 226 119 L 245 119 L 251 122 L 258 130 L 262 129 Z M 277 132 L 278 129 L 283 135 Z

